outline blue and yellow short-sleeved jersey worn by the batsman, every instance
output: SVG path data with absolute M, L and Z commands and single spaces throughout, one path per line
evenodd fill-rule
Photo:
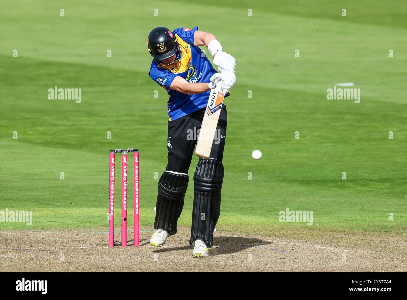
M 160 84 L 170 96 L 167 103 L 168 119 L 170 121 L 193 113 L 208 104 L 210 91 L 188 95 L 170 88 L 171 83 L 177 76 L 181 76 L 190 83 L 210 82 L 210 78 L 216 73 L 212 64 L 206 58 L 204 51 L 194 46 L 194 33 L 197 30 L 198 27 L 193 29 L 181 27 L 173 31 L 182 52 L 181 65 L 176 71 L 159 67 L 154 60 L 151 63 L 149 76 Z M 229 93 L 226 96 L 229 96 Z

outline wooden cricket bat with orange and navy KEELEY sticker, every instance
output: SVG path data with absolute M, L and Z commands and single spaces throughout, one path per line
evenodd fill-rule
M 219 81 L 218 81 L 219 82 Z M 201 129 L 195 148 L 195 155 L 201 158 L 209 158 L 210 151 L 212 150 L 213 139 L 218 126 L 219 116 L 221 114 L 223 98 L 225 94 L 222 93 L 222 82 L 210 90 L 208 105 L 204 112 L 204 119 L 202 120 Z

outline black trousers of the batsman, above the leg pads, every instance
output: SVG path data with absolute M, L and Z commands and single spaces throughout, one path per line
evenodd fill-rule
M 188 174 L 192 157 L 195 155 L 197 133 L 201 128 L 205 109 L 199 109 L 171 122 L 168 121 L 168 164 L 166 171 Z M 223 159 L 225 148 L 227 116 L 228 112 L 225 104 L 223 104 L 210 153 L 210 158 L 220 161 Z

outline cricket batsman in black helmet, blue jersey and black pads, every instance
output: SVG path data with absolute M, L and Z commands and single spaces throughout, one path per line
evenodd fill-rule
M 220 73 L 217 73 L 199 46 L 206 46 Z M 149 53 L 153 57 L 149 76 L 169 95 L 168 164 L 158 182 L 154 229 L 150 244 L 161 247 L 166 238 L 177 233 L 177 220 L 184 207 L 188 187 L 188 169 L 194 154 L 194 134 L 201 128 L 210 90 L 221 84 L 225 97 L 236 82 L 235 59 L 222 51 L 221 43 L 211 33 L 157 27 L 149 34 Z M 211 59 L 212 59 L 211 58 Z M 194 202 L 189 244 L 193 257 L 208 256 L 212 234 L 219 219 L 223 182 L 223 149 L 227 124 L 223 104 L 217 135 L 209 159 L 199 158 L 194 180 Z M 192 137 L 192 138 L 191 138 Z

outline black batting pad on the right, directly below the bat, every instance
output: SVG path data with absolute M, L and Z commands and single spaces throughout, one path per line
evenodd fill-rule
M 197 238 L 212 247 L 213 230 L 221 212 L 223 165 L 216 159 L 201 159 L 194 175 L 194 204 L 189 244 Z

